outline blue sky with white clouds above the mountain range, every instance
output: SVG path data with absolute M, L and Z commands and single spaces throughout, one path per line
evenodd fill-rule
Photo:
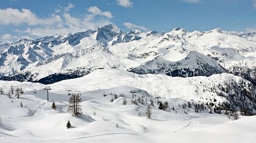
M 1 0 L 0 41 L 75 33 L 113 22 L 121 30 L 221 27 L 256 32 L 256 0 Z

